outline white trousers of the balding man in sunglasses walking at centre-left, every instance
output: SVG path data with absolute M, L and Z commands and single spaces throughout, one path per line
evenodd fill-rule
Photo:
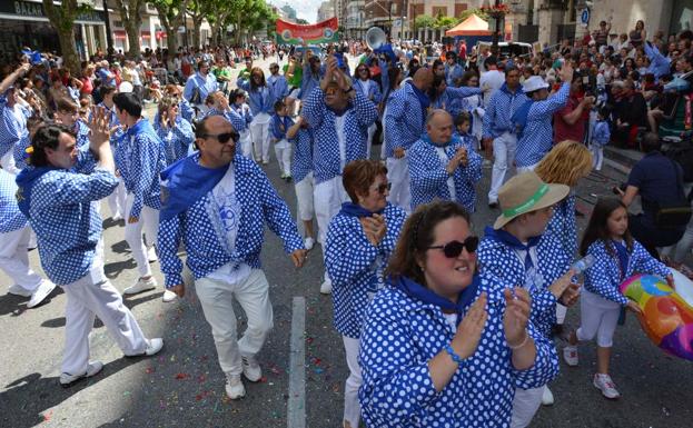
M 221 370 L 227 375 L 240 375 L 240 357 L 259 352 L 273 328 L 269 283 L 265 272 L 253 269 L 246 279 L 235 283 L 205 277 L 195 281 L 195 288 L 211 327 Z M 248 317 L 248 327 L 240 340 L 236 334 L 234 298 Z

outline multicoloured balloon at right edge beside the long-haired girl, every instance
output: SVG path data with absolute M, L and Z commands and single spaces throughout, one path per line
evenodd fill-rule
M 676 289 L 689 291 L 690 281 L 680 281 L 679 276 L 674 281 Z M 635 275 L 620 290 L 643 310 L 637 319 L 650 340 L 673 356 L 693 360 L 693 306 L 653 275 Z

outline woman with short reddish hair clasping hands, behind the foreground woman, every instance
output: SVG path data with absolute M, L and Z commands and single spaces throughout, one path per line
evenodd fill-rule
M 362 385 L 358 346 L 366 309 L 383 288 L 383 270 L 406 212 L 387 202 L 387 169 L 375 160 L 355 160 L 344 168 L 345 202 L 327 231 L 326 269 L 333 280 L 335 328 L 341 334 L 350 376 L 344 391 L 344 426 L 358 427 Z

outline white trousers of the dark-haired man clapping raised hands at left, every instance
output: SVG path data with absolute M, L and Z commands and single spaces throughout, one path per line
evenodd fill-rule
M 91 270 L 75 282 L 62 286 L 68 298 L 65 309 L 66 341 L 62 372 L 80 375 L 89 365 L 89 332 L 95 316 L 103 322 L 118 347 L 127 356 L 143 354 L 149 341 L 139 324 L 122 303 L 120 292 L 103 275 L 101 253 Z

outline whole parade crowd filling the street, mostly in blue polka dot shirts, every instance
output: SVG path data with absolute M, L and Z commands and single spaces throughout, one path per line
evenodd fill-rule
M 81 76 L 28 50 L 0 82 L 9 292 L 31 308 L 65 290 L 62 386 L 102 368 L 89 359 L 95 317 L 126 356 L 159 352 L 164 340 L 145 336 L 103 275 L 102 219 L 122 220 L 138 270 L 123 293 L 161 288 L 174 303 L 191 287 L 185 263 L 238 399 L 244 378 L 263 376 L 273 328 L 267 226 L 297 268 L 324 260 L 315 287 L 331 295 L 349 370 L 344 427 L 526 427 L 554 402 L 558 356 L 576 366 L 580 342 L 595 338 L 593 384 L 618 398 L 614 332 L 623 309 L 640 311 L 618 285 L 641 272 L 673 286 L 670 266 L 685 270 L 693 245 L 690 215 L 662 212 L 690 207 L 690 172 L 657 135 L 667 97 L 687 93 L 693 33 L 651 37 L 638 21 L 610 34 L 601 22 L 525 57 L 464 42 L 374 52 L 358 40 L 138 61 L 111 52 Z M 276 57 L 269 73 L 260 56 Z M 575 188 L 602 169 L 606 145 L 645 157 L 578 237 Z M 296 217 L 266 175 L 273 152 Z M 484 171 L 491 189 L 479 195 Z M 628 213 L 637 197 L 643 212 Z M 476 237 L 479 203 L 497 219 Z M 32 248 L 47 278 L 29 266 Z M 240 338 L 234 300 L 248 318 Z M 556 326 L 578 301 L 580 328 L 557 350 Z

